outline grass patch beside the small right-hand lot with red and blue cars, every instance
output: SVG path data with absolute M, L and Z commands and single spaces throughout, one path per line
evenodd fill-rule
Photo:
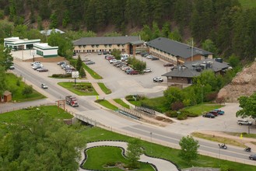
M 202 115 L 202 113 L 208 112 L 210 110 L 219 109 L 220 107 L 223 107 L 223 105 L 202 103 L 195 106 L 186 107 L 184 108 L 184 110 L 187 110 L 191 113 L 196 113 L 198 115 Z

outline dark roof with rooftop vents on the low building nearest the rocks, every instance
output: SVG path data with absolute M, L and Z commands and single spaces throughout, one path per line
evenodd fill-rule
M 205 59 L 201 61 L 186 61 L 184 65 L 177 66 L 177 68 L 174 68 L 173 71 L 167 72 L 162 76 L 193 78 L 195 76 L 201 75 L 202 73 L 196 71 L 196 65 L 206 65 L 206 69 L 212 70 L 212 72 L 220 72 L 230 67 L 226 62 L 219 62 L 215 59 Z

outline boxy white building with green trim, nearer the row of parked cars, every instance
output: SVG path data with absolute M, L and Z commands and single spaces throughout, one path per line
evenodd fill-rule
M 51 47 L 47 43 L 45 44 L 33 44 L 33 49 L 36 50 L 36 54 L 43 56 L 44 58 L 51 58 L 58 56 L 58 47 Z

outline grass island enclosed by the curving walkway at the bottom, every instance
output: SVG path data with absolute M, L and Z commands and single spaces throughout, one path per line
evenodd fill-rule
M 97 147 L 91 148 L 87 151 L 88 159 L 83 165 L 85 169 L 99 169 L 99 170 L 123 170 L 117 168 L 117 166 L 113 166 L 110 168 L 106 167 L 106 163 L 124 163 L 124 166 L 128 165 L 128 159 L 125 159 L 123 155 L 121 155 L 121 148 L 117 147 Z M 100 157 L 99 157 L 100 156 Z M 140 169 L 139 170 L 154 170 L 152 166 L 149 164 L 139 162 Z

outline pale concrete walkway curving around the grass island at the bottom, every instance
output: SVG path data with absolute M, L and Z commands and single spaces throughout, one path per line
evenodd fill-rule
M 106 145 L 121 147 L 121 148 L 124 148 L 125 150 L 128 147 L 127 142 L 124 142 L 124 141 L 96 141 L 96 142 L 88 143 L 86 148 L 91 148 L 91 147 L 95 147 L 95 146 L 106 146 Z M 83 159 L 85 159 L 85 155 L 82 152 L 82 160 Z M 80 164 L 82 163 L 82 160 L 79 162 Z M 149 162 L 149 163 L 153 164 L 154 166 L 156 166 L 156 168 L 159 171 L 167 171 L 167 170 L 168 171 L 178 171 L 177 167 L 172 162 L 169 162 L 164 159 L 156 159 L 156 158 L 152 158 L 152 157 L 149 157 L 146 155 L 141 155 L 139 161 L 140 162 Z M 79 170 L 86 170 L 86 169 L 80 168 Z

